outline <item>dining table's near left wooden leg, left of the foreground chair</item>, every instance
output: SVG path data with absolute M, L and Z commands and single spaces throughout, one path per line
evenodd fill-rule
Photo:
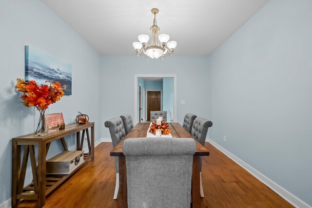
M 119 208 L 127 208 L 127 172 L 126 157 L 119 156 L 119 190 L 117 196 Z

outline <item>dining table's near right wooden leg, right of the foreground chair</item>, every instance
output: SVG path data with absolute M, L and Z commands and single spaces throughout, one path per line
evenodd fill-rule
M 199 188 L 199 156 L 193 156 L 192 172 L 192 208 L 199 208 L 200 188 Z

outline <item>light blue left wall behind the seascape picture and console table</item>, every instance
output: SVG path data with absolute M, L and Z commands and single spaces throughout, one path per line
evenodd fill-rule
M 11 198 L 11 138 L 34 130 L 33 109 L 22 104 L 14 88 L 16 78 L 25 77 L 25 45 L 72 64 L 73 95 L 51 105 L 49 113 L 62 112 L 66 124 L 74 122 L 78 111 L 88 114 L 96 122 L 96 140 L 102 128 L 98 52 L 40 0 L 0 0 L 0 204 Z M 73 150 L 75 137 L 66 141 Z M 60 151 L 59 142 L 52 142 L 48 158 Z

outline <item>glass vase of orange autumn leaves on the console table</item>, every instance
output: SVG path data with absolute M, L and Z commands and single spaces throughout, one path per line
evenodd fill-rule
M 48 81 L 46 81 L 48 82 Z M 24 101 L 26 107 L 34 107 L 34 135 L 41 136 L 48 134 L 48 121 L 45 119 L 44 113 L 48 113 L 48 106 L 59 101 L 64 95 L 59 82 L 48 82 L 49 85 L 39 86 L 36 81 L 24 81 L 17 78 L 15 87 L 19 92 L 23 93 L 20 98 Z M 36 113 L 39 115 L 37 116 Z

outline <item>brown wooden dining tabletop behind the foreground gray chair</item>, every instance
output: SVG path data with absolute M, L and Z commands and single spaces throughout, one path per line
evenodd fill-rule
M 179 123 L 168 123 L 171 130 L 171 135 L 174 138 L 193 138 Z M 117 146 L 110 152 L 111 156 L 124 156 L 122 152 L 122 144 L 128 138 L 146 137 L 150 123 L 137 123 L 137 125 L 117 144 Z M 209 151 L 202 146 L 196 139 L 196 151 L 194 156 L 208 156 Z

